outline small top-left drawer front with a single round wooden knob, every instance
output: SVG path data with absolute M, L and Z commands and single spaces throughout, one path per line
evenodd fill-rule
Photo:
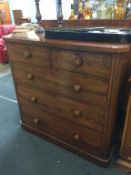
M 10 60 L 23 62 L 26 67 L 49 67 L 49 49 L 46 47 L 7 43 L 7 48 Z

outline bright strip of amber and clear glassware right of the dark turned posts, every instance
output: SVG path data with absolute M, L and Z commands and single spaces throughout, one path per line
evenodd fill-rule
M 130 19 L 131 0 L 62 0 L 64 19 Z

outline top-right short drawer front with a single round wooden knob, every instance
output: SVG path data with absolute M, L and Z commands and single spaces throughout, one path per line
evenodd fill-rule
M 52 59 L 54 68 L 108 79 L 112 55 L 53 49 Z

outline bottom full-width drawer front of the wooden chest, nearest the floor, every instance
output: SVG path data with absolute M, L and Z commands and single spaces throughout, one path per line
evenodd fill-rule
M 90 151 L 102 147 L 102 136 L 80 125 L 62 120 L 33 106 L 22 104 L 22 121 L 40 132 Z M 93 152 L 94 153 L 94 152 Z

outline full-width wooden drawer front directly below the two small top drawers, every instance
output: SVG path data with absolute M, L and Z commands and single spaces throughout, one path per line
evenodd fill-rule
M 16 82 L 105 109 L 108 82 L 13 63 Z

